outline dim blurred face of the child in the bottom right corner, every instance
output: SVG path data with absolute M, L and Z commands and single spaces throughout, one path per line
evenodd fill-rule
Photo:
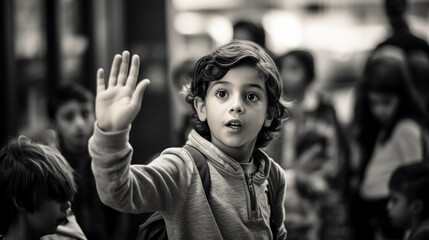
M 395 190 L 390 191 L 387 211 L 394 225 L 402 228 L 409 227 L 413 211 L 410 202 L 403 193 Z

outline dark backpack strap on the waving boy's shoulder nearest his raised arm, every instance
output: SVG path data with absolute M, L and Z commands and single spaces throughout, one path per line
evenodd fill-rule
M 210 195 L 211 178 L 207 158 L 200 150 L 191 145 L 185 145 L 183 148 L 191 154 L 191 157 L 197 166 L 198 173 L 200 174 L 201 182 L 203 184 L 204 193 L 208 200 Z

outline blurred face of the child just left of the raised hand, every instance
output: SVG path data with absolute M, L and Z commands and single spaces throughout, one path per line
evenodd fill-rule
M 56 128 L 70 151 L 85 149 L 95 121 L 92 103 L 71 100 L 58 108 Z

